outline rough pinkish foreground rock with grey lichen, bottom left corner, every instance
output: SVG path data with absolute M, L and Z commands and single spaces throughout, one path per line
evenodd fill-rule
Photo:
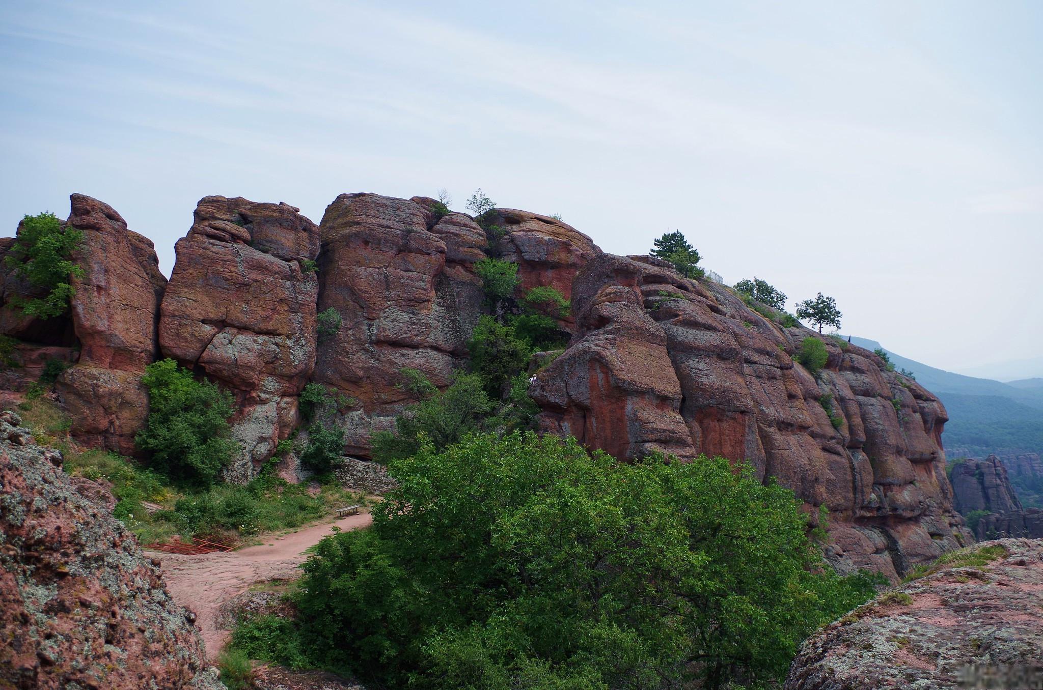
M 0 415 L 0 686 L 223 688 L 159 570 Z

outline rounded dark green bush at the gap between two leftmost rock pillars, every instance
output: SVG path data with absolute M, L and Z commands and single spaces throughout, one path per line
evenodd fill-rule
M 148 365 L 141 383 L 148 389 L 148 419 L 135 437 L 138 447 L 174 479 L 214 482 L 239 448 L 229 438 L 232 395 L 170 359 Z

